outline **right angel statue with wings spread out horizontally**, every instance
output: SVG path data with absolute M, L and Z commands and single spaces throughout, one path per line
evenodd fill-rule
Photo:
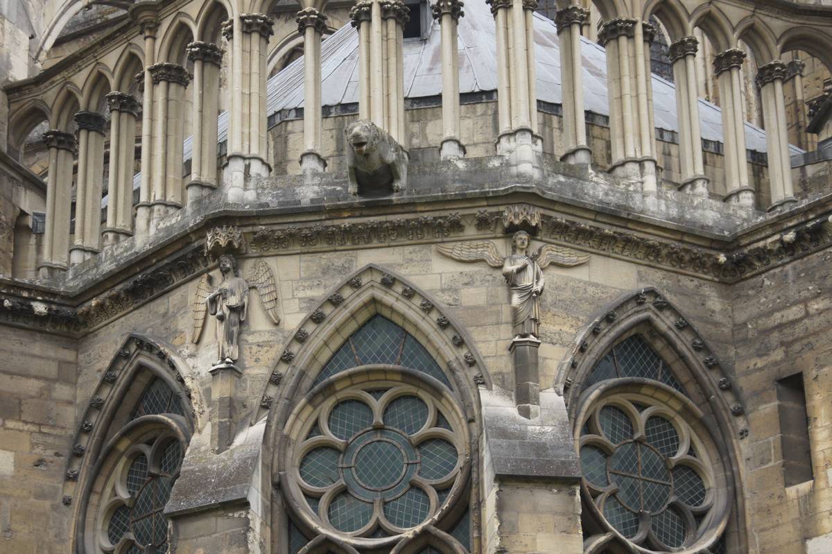
M 437 245 L 443 255 L 464 262 L 484 261 L 502 267 L 511 292 L 513 333 L 517 338 L 537 338 L 540 324 L 540 295 L 543 294 L 543 269 L 550 264 L 569 267 L 589 260 L 588 254 L 557 245 L 542 245 L 527 254 L 529 235 L 519 230 L 512 237 L 512 254 L 503 258 L 491 240 L 471 240 L 453 245 Z

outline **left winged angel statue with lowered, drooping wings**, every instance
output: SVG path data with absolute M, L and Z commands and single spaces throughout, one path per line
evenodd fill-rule
M 194 299 L 194 334 L 191 342 L 196 344 L 202 335 L 206 314 L 216 319 L 216 342 L 220 348 L 220 359 L 215 365 L 234 364 L 239 358 L 240 325 L 248 314 L 249 288 L 260 293 L 265 313 L 275 325 L 280 324 L 277 314 L 277 287 L 275 276 L 269 265 L 256 260 L 245 279 L 240 277 L 240 268 L 233 255 L 220 256 L 222 280 L 216 287 L 210 285 L 210 275 L 202 276 L 196 286 Z

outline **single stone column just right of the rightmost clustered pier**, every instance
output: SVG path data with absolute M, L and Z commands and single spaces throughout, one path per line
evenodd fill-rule
M 682 37 L 670 47 L 673 79 L 676 82 L 676 119 L 679 121 L 679 190 L 693 195 L 708 195 L 708 178 L 702 157 L 702 131 L 699 118 L 699 96 L 696 85 L 696 37 Z

